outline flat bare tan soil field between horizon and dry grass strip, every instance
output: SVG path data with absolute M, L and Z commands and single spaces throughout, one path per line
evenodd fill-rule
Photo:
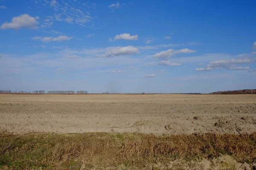
M 256 95 L 0 94 L 0 130 L 253 133 Z

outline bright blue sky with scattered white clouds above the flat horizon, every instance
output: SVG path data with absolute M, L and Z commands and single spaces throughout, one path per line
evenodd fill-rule
M 255 8 L 253 0 L 0 0 L 0 89 L 255 89 Z

